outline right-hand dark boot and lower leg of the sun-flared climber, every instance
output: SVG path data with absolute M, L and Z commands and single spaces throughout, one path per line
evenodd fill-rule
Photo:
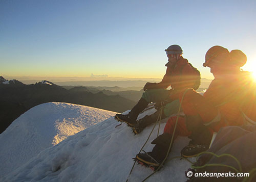
M 187 129 L 191 131 L 189 138 L 191 141 L 181 150 L 183 157 L 194 157 L 200 152 L 206 151 L 212 138 L 212 133 L 209 128 L 203 124 L 199 115 L 186 115 Z

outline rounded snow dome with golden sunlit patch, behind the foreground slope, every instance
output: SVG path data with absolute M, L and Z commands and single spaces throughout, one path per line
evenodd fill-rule
M 71 103 L 38 105 L 0 135 L 0 176 L 3 176 L 62 140 L 116 113 Z

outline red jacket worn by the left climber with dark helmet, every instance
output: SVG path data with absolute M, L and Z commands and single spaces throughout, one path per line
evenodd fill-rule
M 171 86 L 175 90 L 181 90 L 194 86 L 197 72 L 190 66 L 187 59 L 180 57 L 174 66 L 170 66 L 169 63 L 165 66 L 167 69 L 163 80 L 157 83 L 155 88 L 166 89 Z

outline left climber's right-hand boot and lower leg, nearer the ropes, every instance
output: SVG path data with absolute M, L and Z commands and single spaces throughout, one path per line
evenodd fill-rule
M 136 124 L 134 125 L 134 127 L 133 127 L 133 132 L 134 132 L 135 134 L 139 134 L 140 132 L 143 131 L 143 129 L 144 129 L 146 126 L 148 126 L 148 125 L 150 125 L 150 124 L 152 124 L 152 123 L 155 123 L 155 122 L 157 121 L 157 118 L 158 118 L 160 112 L 161 112 L 161 110 L 155 112 L 155 113 L 152 114 L 152 115 L 149 115 L 149 116 L 146 115 L 145 117 L 139 119 L 139 120 L 136 122 Z M 166 116 L 164 115 L 164 112 L 162 111 L 162 118 L 161 118 L 161 119 L 164 119 L 164 118 L 166 118 Z

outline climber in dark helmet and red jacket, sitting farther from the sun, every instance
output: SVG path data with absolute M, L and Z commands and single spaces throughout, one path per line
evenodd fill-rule
M 117 114 L 115 118 L 118 121 L 125 122 L 127 125 L 133 127 L 135 134 L 140 133 L 147 125 L 156 122 L 160 112 L 162 119 L 176 114 L 179 109 L 179 92 L 185 88 L 192 87 L 195 90 L 200 86 L 200 72 L 194 68 L 182 55 L 182 49 L 179 45 L 171 45 L 165 49 L 168 63 L 166 73 L 160 83 L 146 83 L 144 86 L 144 93 L 137 105 L 133 107 L 129 114 Z M 171 86 L 172 89 L 166 90 Z M 139 113 L 143 111 L 148 103 L 161 102 L 167 103 L 162 110 L 154 114 L 136 121 Z

